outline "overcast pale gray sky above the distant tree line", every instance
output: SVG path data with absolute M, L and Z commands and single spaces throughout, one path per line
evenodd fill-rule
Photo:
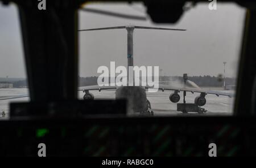
M 146 15 L 142 5 L 88 5 L 125 14 Z M 209 10 L 208 3 L 197 5 L 184 13 L 179 23 L 154 24 L 150 19 L 138 21 L 79 12 L 79 28 L 144 25 L 184 28 L 185 32 L 135 29 L 134 64 L 159 66 L 166 75 L 218 75 L 228 62 L 226 76 L 236 76 L 240 53 L 242 23 L 245 10 L 235 4 L 217 3 Z M 23 50 L 15 6 L 0 5 L 0 77 L 25 77 Z M 127 65 L 127 34 L 125 29 L 79 32 L 80 76 L 98 76 L 99 66 Z

